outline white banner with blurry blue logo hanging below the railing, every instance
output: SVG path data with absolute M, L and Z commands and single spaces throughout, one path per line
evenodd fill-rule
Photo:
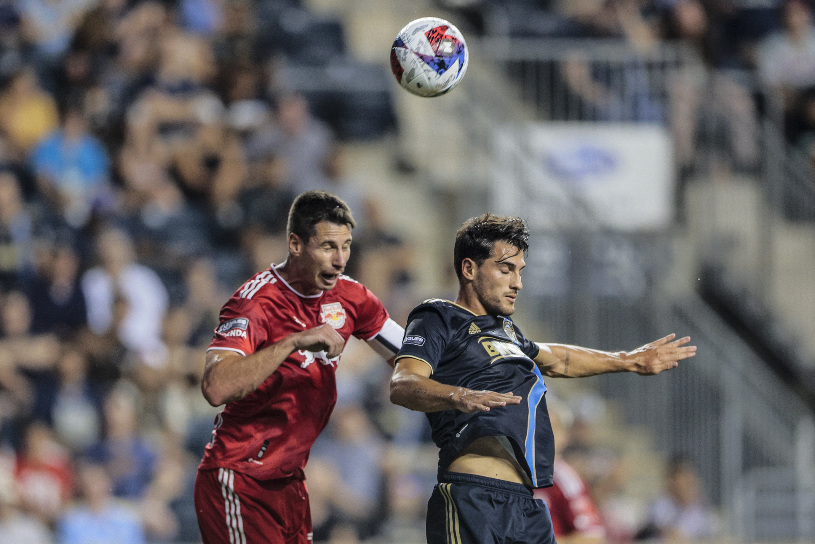
M 495 146 L 492 209 L 535 230 L 654 231 L 672 220 L 672 142 L 663 126 L 502 126 Z

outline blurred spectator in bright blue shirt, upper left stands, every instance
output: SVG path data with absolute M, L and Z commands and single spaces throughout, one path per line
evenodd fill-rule
M 69 109 L 63 126 L 32 153 L 37 183 L 64 219 L 84 226 L 95 207 L 108 206 L 110 161 L 104 146 L 88 134 L 80 109 Z

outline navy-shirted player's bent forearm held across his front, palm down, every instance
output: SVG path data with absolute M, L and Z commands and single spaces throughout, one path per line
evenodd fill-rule
M 517 405 L 521 397 L 495 391 L 473 391 L 430 379 L 430 366 L 423 360 L 401 357 L 390 378 L 390 401 L 417 412 L 457 409 L 467 414 L 489 412 L 491 408 Z

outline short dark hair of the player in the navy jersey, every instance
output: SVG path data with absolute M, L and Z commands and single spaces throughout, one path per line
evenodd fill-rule
M 514 245 L 526 253 L 529 249 L 529 228 L 519 217 L 504 217 L 490 213 L 471 217 L 456 232 L 456 246 L 453 249 L 453 266 L 461 281 L 461 263 L 473 259 L 480 267 L 490 256 L 496 241 Z

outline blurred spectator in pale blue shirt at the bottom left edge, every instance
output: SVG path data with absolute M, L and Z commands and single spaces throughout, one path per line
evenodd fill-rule
M 110 494 L 110 476 L 100 465 L 80 472 L 84 501 L 59 521 L 60 544 L 142 544 L 139 515 L 117 503 Z

